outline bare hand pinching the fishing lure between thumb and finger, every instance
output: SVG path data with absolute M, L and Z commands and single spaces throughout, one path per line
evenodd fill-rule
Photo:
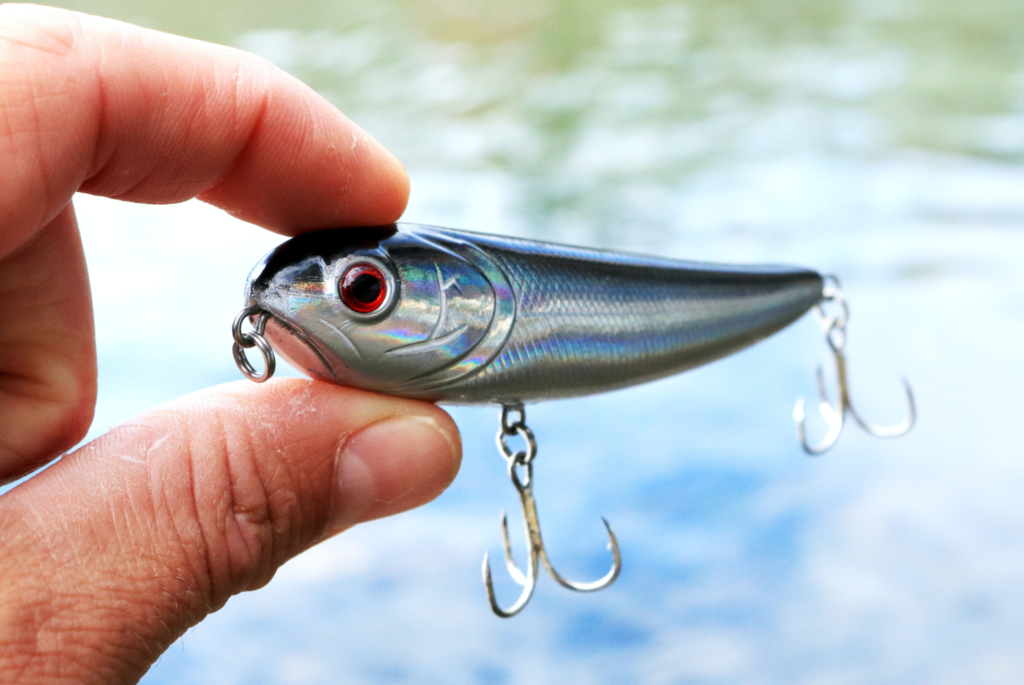
M 79 190 L 199 198 L 291 236 L 390 223 L 409 179 L 251 54 L 0 5 L 0 482 L 65 455 L 92 420 Z M 435 498 L 461 454 L 432 404 L 313 381 L 243 381 L 143 414 L 0 497 L 0 680 L 137 682 L 296 554 Z

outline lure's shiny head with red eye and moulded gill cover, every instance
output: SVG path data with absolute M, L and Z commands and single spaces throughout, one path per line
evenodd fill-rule
M 337 228 L 279 246 L 250 273 L 246 296 L 271 314 L 266 337 L 297 369 L 433 398 L 432 386 L 483 361 L 471 352 L 501 297 L 486 271 L 429 231 Z

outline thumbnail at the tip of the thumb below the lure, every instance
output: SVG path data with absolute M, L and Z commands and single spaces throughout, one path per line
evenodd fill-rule
M 428 417 L 396 417 L 352 434 L 335 467 L 331 532 L 433 500 L 460 457 L 458 437 Z

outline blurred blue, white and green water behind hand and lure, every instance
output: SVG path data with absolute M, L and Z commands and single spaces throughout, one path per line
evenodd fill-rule
M 604 515 L 625 569 L 597 595 L 543 576 L 510 622 L 479 571 L 502 508 L 522 556 L 498 412 L 457 409 L 447 493 L 290 562 L 146 685 L 1024 682 L 1024 3 L 65 4 L 306 81 L 407 164 L 408 220 L 839 273 L 861 412 L 900 420 L 903 374 L 920 404 L 904 439 L 853 429 L 806 458 L 792 408 L 828 362 L 808 316 L 677 378 L 531 406 L 553 561 L 603 573 Z M 198 203 L 78 210 L 91 434 L 238 379 L 228 326 L 280 239 Z

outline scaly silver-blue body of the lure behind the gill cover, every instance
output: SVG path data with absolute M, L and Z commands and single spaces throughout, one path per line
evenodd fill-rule
M 642 383 L 752 345 L 821 299 L 821 276 L 808 269 L 460 237 L 508 276 L 515 323 L 497 357 L 438 388 L 440 399 L 553 398 Z

